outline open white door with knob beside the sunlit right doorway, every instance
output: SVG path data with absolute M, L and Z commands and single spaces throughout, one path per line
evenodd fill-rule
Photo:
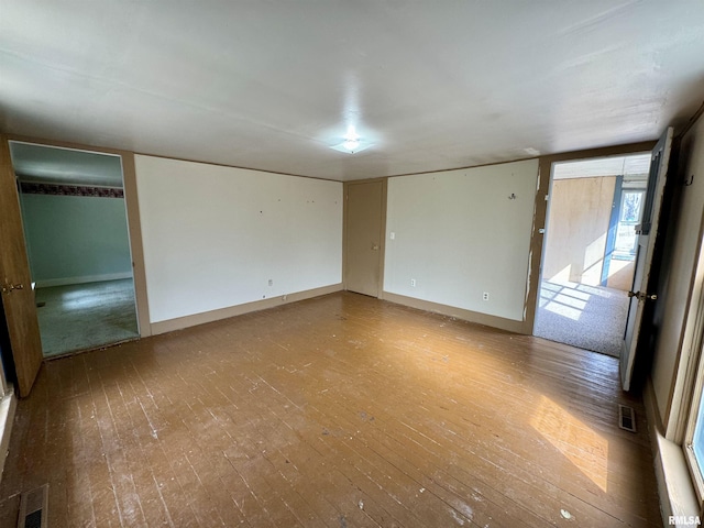
M 630 389 L 630 381 L 634 373 L 634 360 L 638 346 L 638 334 L 646 302 L 656 300 L 656 295 L 648 292 L 650 280 L 650 264 L 658 234 L 662 194 L 670 163 L 670 147 L 672 145 L 672 128 L 668 128 L 658 144 L 652 150 L 650 158 L 650 174 L 648 176 L 648 190 L 642 211 L 642 220 L 636 227 L 638 234 L 638 249 L 636 253 L 636 270 L 634 284 L 628 293 L 630 305 L 628 306 L 628 319 L 620 353 L 620 382 L 624 391 Z

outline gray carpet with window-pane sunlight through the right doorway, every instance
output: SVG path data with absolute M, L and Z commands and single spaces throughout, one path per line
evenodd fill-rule
M 618 358 L 627 316 L 626 292 L 543 280 L 534 333 Z

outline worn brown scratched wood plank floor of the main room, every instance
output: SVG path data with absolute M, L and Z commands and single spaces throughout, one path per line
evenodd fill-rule
M 613 358 L 333 294 L 46 363 L 1 526 L 661 527 L 642 417 Z

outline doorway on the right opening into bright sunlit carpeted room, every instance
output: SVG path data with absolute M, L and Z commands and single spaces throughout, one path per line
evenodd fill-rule
M 535 336 L 620 355 L 650 157 L 552 165 Z

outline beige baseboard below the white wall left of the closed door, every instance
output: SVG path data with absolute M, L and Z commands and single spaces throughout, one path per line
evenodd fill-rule
M 151 324 L 152 336 L 173 332 L 174 330 L 182 330 L 184 328 L 195 327 L 197 324 L 205 324 L 206 322 L 219 321 L 221 319 L 228 319 L 229 317 L 242 316 L 252 311 L 265 310 L 267 308 L 287 305 L 289 302 L 311 299 L 314 297 L 320 297 L 321 295 L 334 294 L 336 292 L 340 290 L 342 290 L 342 283 L 333 284 L 330 286 L 322 286 L 320 288 L 307 289 L 305 292 L 296 292 L 294 294 L 287 294 L 282 297 L 272 297 L 271 299 L 262 299 L 255 300 L 253 302 L 245 302 L 243 305 L 230 306 L 228 308 L 221 308 L 219 310 L 204 311 L 202 314 L 194 314 L 193 316 L 185 316 L 178 317 L 176 319 L 168 319 L 166 321 L 153 322 Z

